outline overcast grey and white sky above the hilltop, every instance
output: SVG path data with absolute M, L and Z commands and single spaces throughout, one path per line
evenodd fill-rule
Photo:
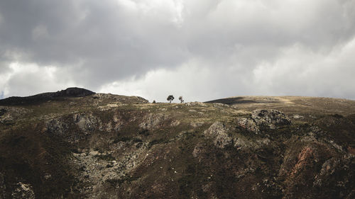
M 0 98 L 355 99 L 355 0 L 0 0 Z

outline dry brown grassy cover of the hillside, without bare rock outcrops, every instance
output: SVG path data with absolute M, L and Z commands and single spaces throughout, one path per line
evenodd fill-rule
M 104 166 L 138 150 L 133 169 L 124 177 L 109 179 L 101 186 L 102 192 L 118 198 L 300 198 L 306 194 L 310 198 L 328 198 L 338 197 L 339 191 L 343 195 L 351 192 L 354 186 L 349 184 L 352 181 L 346 182 L 346 191 L 325 186 L 330 188 L 322 191 L 322 195 L 317 188 L 312 188 L 312 183 L 324 161 L 341 159 L 344 155 L 322 140 L 332 140 L 349 152 L 355 148 L 355 117 L 351 115 L 355 113 L 354 101 L 301 97 L 244 97 L 238 100 L 244 102 L 233 106 L 214 103 L 186 106 L 141 103 L 135 97 L 87 96 L 17 106 L 30 111 L 0 124 L 0 172 L 5 176 L 6 193 L 11 194 L 16 182 L 27 181 L 38 198 L 81 197 L 80 187 L 84 186 L 78 176 L 81 170 L 70 161 L 75 159 L 73 152 L 80 154 L 92 150 L 102 152 L 96 158 Z M 109 108 L 108 104 L 116 106 Z M 293 125 L 263 135 L 236 126 L 237 118 L 247 117 L 256 108 L 274 108 L 290 117 L 300 115 L 301 118 L 291 118 Z M 119 117 L 122 125 L 118 131 L 97 127 L 74 143 L 46 131 L 46 122 L 53 118 L 65 120 L 70 131 L 80 131 L 72 122 L 72 115 L 77 113 L 93 114 L 102 124 L 114 123 L 113 118 Z M 142 130 L 139 125 L 149 114 L 167 117 L 152 129 Z M 171 125 L 175 120 L 180 124 Z M 232 137 L 249 140 L 249 144 L 268 138 L 271 144 L 244 149 L 214 147 L 203 132 L 216 121 L 225 123 Z M 302 141 L 309 137 L 314 125 L 324 130 L 319 135 L 322 139 Z M 122 143 L 125 147 L 112 147 Z M 137 149 L 140 143 L 146 147 Z M 193 157 L 197 145 L 202 146 L 202 151 Z M 307 165 L 302 167 L 305 170 L 291 175 L 307 147 L 312 149 L 317 162 L 308 164 L 306 158 Z M 352 161 L 349 165 L 354 165 L 354 159 Z M 343 170 L 337 172 L 339 178 L 354 176 Z M 44 178 L 46 174 L 51 174 L 50 181 Z

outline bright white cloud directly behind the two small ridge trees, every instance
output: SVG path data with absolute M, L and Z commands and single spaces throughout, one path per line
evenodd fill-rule
M 191 60 L 177 69 L 157 69 L 141 78 L 114 81 L 103 85 L 99 92 L 142 96 L 149 101 L 165 102 L 168 95 L 184 96 L 185 101 L 197 101 L 217 96 L 206 83 L 213 79 L 213 72 L 202 67 L 201 60 Z

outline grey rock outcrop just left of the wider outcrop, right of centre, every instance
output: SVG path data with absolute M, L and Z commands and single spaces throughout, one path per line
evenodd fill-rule
M 207 135 L 214 140 L 214 146 L 223 149 L 233 142 L 233 139 L 226 132 L 227 129 L 223 123 L 215 122 L 204 131 L 204 135 Z

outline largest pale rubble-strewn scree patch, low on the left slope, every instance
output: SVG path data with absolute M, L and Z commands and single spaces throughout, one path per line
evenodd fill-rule
M 136 147 L 136 144 L 121 142 L 117 145 L 129 151 L 125 152 L 120 159 L 116 159 L 113 152 L 90 151 L 73 154 L 75 166 L 80 168 L 77 178 L 85 185 L 77 187 L 80 193 L 84 193 L 89 198 L 117 198 L 114 193 L 109 192 L 109 188 L 119 187 L 120 183 L 130 178 L 129 172 L 141 164 L 148 144 L 141 143 L 140 147 Z

